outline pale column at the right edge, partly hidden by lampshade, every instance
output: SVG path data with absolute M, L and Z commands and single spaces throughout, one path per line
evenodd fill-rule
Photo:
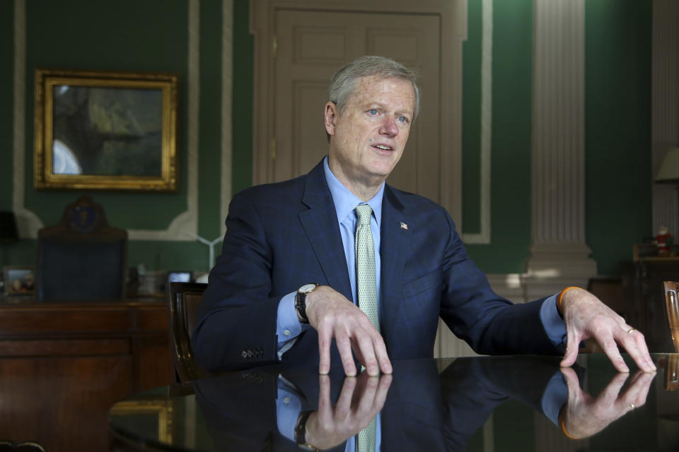
M 679 2 L 676 0 L 653 2 L 651 65 L 651 177 L 655 179 L 667 150 L 679 145 Z M 649 235 L 656 234 L 658 228 L 665 225 L 673 237 L 679 237 L 677 206 L 675 186 L 654 184 L 653 230 Z

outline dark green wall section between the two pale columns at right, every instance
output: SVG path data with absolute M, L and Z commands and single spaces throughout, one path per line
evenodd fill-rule
M 586 2 L 586 237 L 619 272 L 651 230 L 652 2 Z

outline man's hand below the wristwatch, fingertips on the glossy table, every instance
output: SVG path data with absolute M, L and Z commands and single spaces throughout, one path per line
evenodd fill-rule
M 380 370 L 391 374 L 392 367 L 387 347 L 368 316 L 332 287 L 324 285 L 306 296 L 306 316 L 318 332 L 320 374 L 330 371 L 330 344 L 335 338 L 340 352 L 344 374 L 356 375 L 352 350 L 368 375 L 376 376 Z

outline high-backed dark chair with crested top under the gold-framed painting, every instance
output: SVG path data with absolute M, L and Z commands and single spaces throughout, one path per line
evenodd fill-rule
M 37 233 L 37 297 L 113 300 L 124 296 L 127 231 L 110 227 L 102 206 L 82 196 L 58 225 Z

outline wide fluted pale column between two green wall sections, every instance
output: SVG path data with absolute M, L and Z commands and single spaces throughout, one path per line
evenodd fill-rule
M 596 275 L 585 243 L 584 0 L 535 0 L 534 8 L 528 299 L 586 287 Z

